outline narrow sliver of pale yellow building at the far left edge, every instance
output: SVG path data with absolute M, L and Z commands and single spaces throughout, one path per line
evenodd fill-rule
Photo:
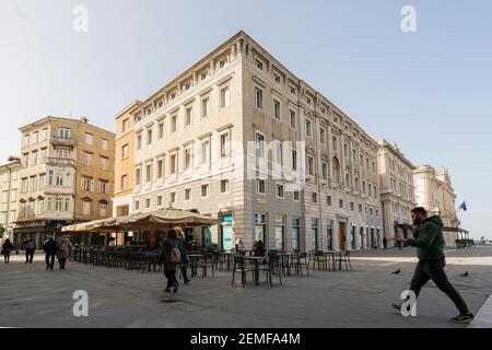
M 0 230 L 10 236 L 16 221 L 21 160 L 10 158 L 10 163 L 0 165 Z

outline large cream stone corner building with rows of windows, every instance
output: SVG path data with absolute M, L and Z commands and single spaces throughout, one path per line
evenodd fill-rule
M 244 32 L 130 114 L 132 212 L 219 218 L 188 234 L 224 249 L 382 245 L 377 142 Z

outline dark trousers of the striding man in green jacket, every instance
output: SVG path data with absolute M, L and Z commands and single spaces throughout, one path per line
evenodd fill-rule
M 444 271 L 445 266 L 445 259 L 427 261 L 420 260 L 419 264 L 417 264 L 415 272 L 413 272 L 410 290 L 415 293 L 417 298 L 419 298 L 422 287 L 424 287 L 429 280 L 432 280 L 442 292 L 449 296 L 459 310 L 460 314 L 467 314 L 467 303 L 447 279 L 446 272 Z

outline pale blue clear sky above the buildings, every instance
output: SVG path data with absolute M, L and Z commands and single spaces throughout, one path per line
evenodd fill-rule
M 405 5 L 417 32 L 401 30 Z M 0 0 L 0 163 L 47 115 L 114 130 L 125 106 L 244 30 L 374 139 L 447 167 L 461 226 L 492 238 L 491 14 L 489 0 Z

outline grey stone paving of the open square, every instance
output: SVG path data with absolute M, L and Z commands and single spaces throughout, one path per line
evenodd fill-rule
M 353 255 L 351 272 L 313 271 L 273 288 L 265 278 L 255 287 L 248 276 L 244 289 L 231 287 L 231 272 L 216 272 L 181 284 L 174 295 L 163 292 L 161 273 L 78 262 L 49 271 L 40 255 L 33 265 L 12 256 L 11 264 L 0 262 L 0 327 L 466 327 L 447 322 L 457 311 L 433 283 L 422 291 L 418 317 L 390 308 L 410 282 L 413 248 Z M 492 293 L 492 246 L 448 249 L 446 256 L 450 281 L 477 314 Z M 393 275 L 397 269 L 401 273 Z M 460 277 L 465 271 L 469 277 Z M 77 290 L 89 294 L 89 317 L 73 316 Z

